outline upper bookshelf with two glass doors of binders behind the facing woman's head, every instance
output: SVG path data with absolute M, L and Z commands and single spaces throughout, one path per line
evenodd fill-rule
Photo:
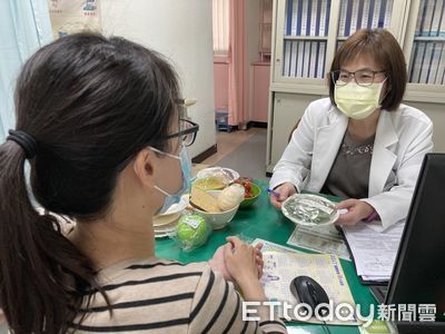
M 276 0 L 275 4 L 273 79 L 277 84 L 297 85 L 303 91 L 316 92 L 308 91 L 307 85 L 324 85 L 335 51 L 356 30 L 386 28 L 399 40 L 396 27 L 402 24 L 402 18 L 393 12 L 400 11 L 403 1 Z

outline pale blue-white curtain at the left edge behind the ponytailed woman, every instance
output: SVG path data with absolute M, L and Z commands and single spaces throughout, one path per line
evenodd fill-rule
M 23 62 L 52 40 L 48 0 L 0 0 L 0 143 L 14 128 L 13 89 Z

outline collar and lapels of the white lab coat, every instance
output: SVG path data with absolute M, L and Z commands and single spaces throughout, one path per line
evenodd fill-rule
M 348 117 L 332 107 L 327 114 L 328 121 L 315 130 L 312 184 L 322 189 L 337 156 L 345 135 Z M 380 194 L 385 187 L 390 169 L 397 156 L 390 150 L 398 137 L 393 126 L 392 115 L 386 110 L 378 117 L 373 158 L 369 171 L 369 197 Z

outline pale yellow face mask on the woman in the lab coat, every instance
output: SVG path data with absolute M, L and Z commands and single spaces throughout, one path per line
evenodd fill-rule
M 335 102 L 347 117 L 363 119 L 380 108 L 380 94 L 385 81 L 359 86 L 354 81 L 345 86 L 335 86 Z

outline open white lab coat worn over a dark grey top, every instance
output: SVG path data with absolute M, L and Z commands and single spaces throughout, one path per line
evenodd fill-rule
M 348 125 L 348 117 L 329 98 L 312 102 L 281 159 L 270 188 L 289 181 L 298 191 L 320 191 Z M 384 230 L 406 218 L 424 155 L 433 149 L 433 124 L 421 110 L 400 105 L 382 110 L 369 170 L 368 198 L 380 217 L 373 228 Z

